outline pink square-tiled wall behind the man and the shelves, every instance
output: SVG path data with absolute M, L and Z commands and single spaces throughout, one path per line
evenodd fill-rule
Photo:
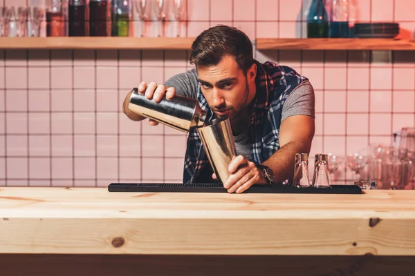
M 39 1 L 42 2 L 42 1 Z M 183 36 L 218 23 L 257 37 L 306 37 L 310 1 L 188 0 Z M 398 21 L 414 37 L 414 1 L 360 0 L 358 19 Z M 1 3 L 1 1 L 0 1 Z M 6 0 L 4 4 L 34 3 Z M 167 35 L 168 28 L 166 26 Z M 107 186 L 180 182 L 185 134 L 129 121 L 121 112 L 140 81 L 190 68 L 188 51 L 0 50 L 0 186 Z M 292 66 L 316 95 L 312 153 L 345 155 L 414 126 L 415 52 L 257 51 Z M 340 177 L 349 178 L 343 168 Z

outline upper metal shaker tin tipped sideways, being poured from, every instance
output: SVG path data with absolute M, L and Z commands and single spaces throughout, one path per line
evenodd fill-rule
M 196 99 L 183 96 L 174 96 L 167 100 L 165 97 L 156 103 L 154 99 L 147 99 L 133 88 L 128 104 L 129 110 L 142 115 L 160 124 L 188 132 L 190 128 L 203 126 L 207 113 L 201 109 Z

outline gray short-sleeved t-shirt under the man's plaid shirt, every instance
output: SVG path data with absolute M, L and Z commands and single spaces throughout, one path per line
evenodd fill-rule
M 176 95 L 185 97 L 197 98 L 199 81 L 197 80 L 196 69 L 188 70 L 187 72 L 174 75 L 165 81 L 165 86 L 176 88 Z M 282 108 L 282 119 L 294 115 L 308 115 L 315 117 L 314 113 L 315 98 L 313 86 L 309 81 L 303 81 L 299 84 L 286 98 Z M 248 160 L 251 160 L 249 141 L 249 129 L 234 137 L 235 146 L 237 148 L 237 155 L 243 155 Z

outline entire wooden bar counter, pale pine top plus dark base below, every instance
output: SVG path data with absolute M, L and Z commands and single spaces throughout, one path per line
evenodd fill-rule
M 415 190 L 2 187 L 0 275 L 415 275 Z

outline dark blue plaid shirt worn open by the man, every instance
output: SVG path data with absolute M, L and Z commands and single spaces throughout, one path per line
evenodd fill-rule
M 279 126 L 282 118 L 282 106 L 288 95 L 299 83 L 306 80 L 295 70 L 287 66 L 279 66 L 277 63 L 267 61 L 257 63 L 257 93 L 254 112 L 250 119 L 250 141 L 252 146 L 250 154 L 255 164 L 266 161 L 279 149 Z M 198 85 L 197 99 L 203 110 L 208 112 L 208 120 L 214 119 L 214 113 L 210 110 L 208 102 Z M 192 128 L 187 137 L 187 150 L 183 171 L 183 182 L 193 183 L 199 172 L 209 164 L 205 154 L 199 133 Z

